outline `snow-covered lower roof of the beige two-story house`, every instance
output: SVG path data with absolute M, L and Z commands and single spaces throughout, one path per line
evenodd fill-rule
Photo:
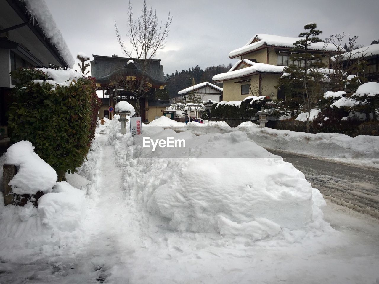
M 246 64 L 249 67 L 235 70 L 241 63 Z M 214 82 L 232 80 L 244 76 L 249 76 L 254 73 L 277 73 L 283 72 L 283 68 L 286 66 L 276 66 L 265 63 L 256 63 L 248 59 L 239 60 L 228 72 L 221 73 L 213 76 Z

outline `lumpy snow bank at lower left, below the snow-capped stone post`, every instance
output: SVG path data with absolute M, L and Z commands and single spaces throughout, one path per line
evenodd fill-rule
M 2 259 L 33 261 L 72 250 L 72 244 L 85 241 L 86 232 L 81 225 L 86 208 L 85 191 L 64 181 L 39 198 L 38 209 L 30 202 L 23 207 L 0 208 Z

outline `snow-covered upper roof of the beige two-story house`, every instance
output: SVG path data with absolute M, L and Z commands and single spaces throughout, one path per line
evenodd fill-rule
M 243 47 L 230 51 L 229 57 L 235 58 L 237 56 L 249 53 L 263 46 L 293 48 L 294 42 L 300 39 L 304 39 L 304 38 L 303 37 L 274 36 L 273 34 L 256 34 Z M 324 42 L 316 42 L 316 43 L 310 44 L 309 50 L 324 50 L 324 51 L 329 51 L 329 52 L 338 51 L 335 46 L 325 45 Z

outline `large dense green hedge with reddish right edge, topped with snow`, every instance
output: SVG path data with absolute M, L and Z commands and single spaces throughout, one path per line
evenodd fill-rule
M 9 110 L 11 142 L 30 141 L 64 179 L 85 159 L 96 127 L 99 101 L 94 81 L 73 70 L 17 69 L 15 103 Z

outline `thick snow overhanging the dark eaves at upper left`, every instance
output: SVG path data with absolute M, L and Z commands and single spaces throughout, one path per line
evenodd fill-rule
M 62 59 L 67 63 L 67 65 L 72 68 L 75 64 L 74 58 L 69 50 L 69 47 L 64 41 L 61 31 L 58 29 L 52 14 L 47 7 L 44 0 L 20 0 L 25 2 L 27 11 L 30 13 L 32 19 L 38 21 L 39 26 L 50 40 L 50 42 L 55 45 Z

